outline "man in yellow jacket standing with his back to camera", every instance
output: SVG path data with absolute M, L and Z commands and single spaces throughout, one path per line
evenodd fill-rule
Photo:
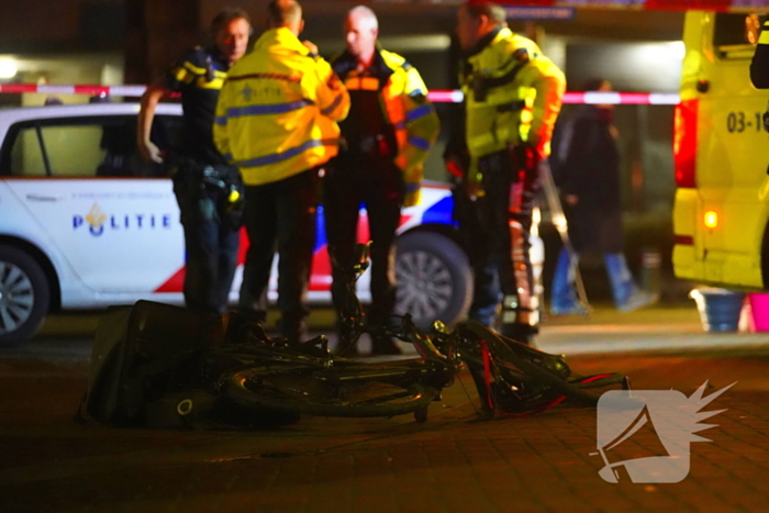
M 270 30 L 233 66 L 216 105 L 214 142 L 241 169 L 250 246 L 239 312 L 264 322 L 277 247 L 279 328 L 305 336 L 304 300 L 315 242 L 319 174 L 336 155 L 349 96 L 312 43 L 301 43 L 302 10 L 293 0 L 269 3 Z

